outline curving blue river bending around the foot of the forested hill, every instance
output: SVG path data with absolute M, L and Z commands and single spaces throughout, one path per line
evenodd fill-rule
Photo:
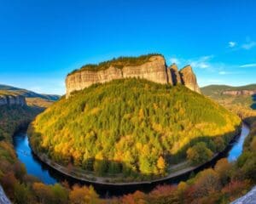
M 242 145 L 249 133 L 249 127 L 246 124 L 242 125 L 241 134 L 236 137 L 235 141 L 227 147 L 224 153 L 217 156 L 213 161 L 208 162 L 204 166 L 194 171 L 197 173 L 206 167 L 213 167 L 215 163 L 223 157 L 227 157 L 229 161 L 236 161 L 241 155 Z M 68 178 L 67 176 L 55 171 L 48 165 L 39 161 L 37 156 L 32 154 L 26 132 L 18 132 L 14 135 L 14 146 L 18 159 L 25 164 L 27 173 L 39 178 L 44 184 L 56 184 L 59 182 L 67 181 L 69 184 L 86 184 L 90 185 L 90 182 L 81 182 L 79 180 Z M 96 192 L 102 197 L 108 195 L 123 195 L 126 193 L 134 192 L 135 190 L 143 190 L 148 192 L 154 189 L 157 184 L 177 184 L 181 180 L 189 178 L 190 173 L 184 173 L 177 178 L 169 178 L 166 181 L 156 182 L 154 184 L 135 184 L 133 186 L 111 186 L 104 184 L 92 184 Z

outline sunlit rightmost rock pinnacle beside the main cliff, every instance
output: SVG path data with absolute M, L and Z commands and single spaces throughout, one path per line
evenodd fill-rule
M 201 90 L 197 84 L 195 73 L 190 65 L 185 66 L 181 71 L 179 71 L 182 84 L 187 88 L 201 93 Z

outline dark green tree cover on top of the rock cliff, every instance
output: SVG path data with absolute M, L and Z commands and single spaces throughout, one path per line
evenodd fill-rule
M 83 65 L 79 70 L 74 70 L 69 73 L 69 75 L 79 71 L 102 71 L 108 69 L 108 67 L 110 66 L 122 69 L 124 66 L 143 65 L 144 63 L 148 62 L 150 57 L 159 55 L 162 56 L 161 54 L 144 54 L 138 57 L 119 57 L 116 59 L 113 58 L 99 64 Z

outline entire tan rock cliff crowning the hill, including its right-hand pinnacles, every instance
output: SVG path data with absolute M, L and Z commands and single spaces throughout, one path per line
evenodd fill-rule
M 103 70 L 73 71 L 66 78 L 66 97 L 68 98 L 73 91 L 82 90 L 94 83 L 109 82 L 113 79 L 137 77 L 148 81 L 162 84 L 183 84 L 191 90 L 201 93 L 196 82 L 196 77 L 191 66 L 177 70 L 177 65 L 166 66 L 166 60 L 162 55 L 152 55 L 142 65 L 111 65 Z

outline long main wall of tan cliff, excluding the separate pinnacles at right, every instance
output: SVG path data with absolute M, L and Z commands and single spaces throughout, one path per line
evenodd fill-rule
M 79 71 L 66 78 L 67 98 L 73 91 L 82 90 L 94 83 L 104 83 L 113 79 L 137 77 L 152 82 L 167 83 L 166 60 L 152 56 L 147 63 L 138 66 L 124 66 L 122 69 L 110 66 L 103 71 Z

